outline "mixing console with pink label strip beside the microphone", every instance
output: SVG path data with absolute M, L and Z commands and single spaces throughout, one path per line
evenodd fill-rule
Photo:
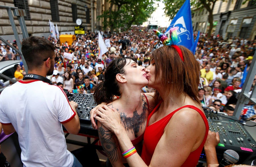
M 223 158 L 224 151 L 232 149 L 236 151 L 240 158 L 239 162 L 245 160 L 253 151 L 256 150 L 256 142 L 251 135 L 245 130 L 243 124 L 237 122 L 235 116 L 226 116 L 216 114 L 212 110 L 204 108 L 208 120 L 209 130 L 219 132 L 220 143 L 216 147 L 218 159 Z M 205 160 L 204 151 L 200 160 Z

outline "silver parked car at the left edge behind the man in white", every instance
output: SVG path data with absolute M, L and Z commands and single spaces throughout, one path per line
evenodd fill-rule
M 14 65 L 20 64 L 21 60 L 7 60 L 7 61 L 1 61 L 0 62 L 0 73 L 4 74 L 5 76 L 8 76 L 9 78 L 12 78 L 13 80 L 16 80 L 14 77 Z M 6 78 L 0 76 L 0 80 L 5 84 L 5 86 L 8 86 L 9 80 Z M 1 87 L 1 86 L 0 86 Z

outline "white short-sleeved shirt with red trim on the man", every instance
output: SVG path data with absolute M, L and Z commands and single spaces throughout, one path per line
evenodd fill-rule
M 62 123 L 75 112 L 60 87 L 19 81 L 3 90 L 0 103 L 0 122 L 12 124 L 18 133 L 24 166 L 72 166 Z

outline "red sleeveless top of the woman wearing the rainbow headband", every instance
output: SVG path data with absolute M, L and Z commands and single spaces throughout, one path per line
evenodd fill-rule
M 148 126 L 149 119 L 154 114 L 154 112 L 158 109 L 158 107 L 160 106 L 161 103 L 162 103 L 162 101 L 160 101 L 160 103 L 158 103 L 158 105 L 154 108 L 154 110 L 148 116 L 146 130 L 144 132 L 144 144 L 143 144 L 141 158 L 144 160 L 144 162 L 147 165 L 150 164 L 150 161 L 153 156 L 156 145 L 157 145 L 158 141 L 160 140 L 160 138 L 162 137 L 162 135 L 164 133 L 164 128 L 166 127 L 166 125 L 168 124 L 170 119 L 172 118 L 173 114 L 175 114 L 181 108 L 187 107 L 187 108 L 192 108 L 192 109 L 196 110 L 202 116 L 202 118 L 205 122 L 205 128 L 206 128 L 205 137 L 203 139 L 203 142 L 195 151 L 193 151 L 189 154 L 186 161 L 182 164 L 182 166 L 196 166 L 197 162 L 199 160 L 199 157 L 201 155 L 201 152 L 203 150 L 207 135 L 208 135 L 209 126 L 208 126 L 207 118 L 205 117 L 204 113 L 199 108 L 192 106 L 192 105 L 186 105 L 186 106 L 178 108 L 177 110 L 171 112 L 170 114 L 168 114 L 161 120 Z

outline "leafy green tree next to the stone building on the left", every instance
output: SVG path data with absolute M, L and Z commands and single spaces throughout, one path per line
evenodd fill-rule
M 103 18 L 103 29 L 110 28 L 111 33 L 118 28 L 127 30 L 131 25 L 141 25 L 155 10 L 153 0 L 109 0 L 109 3 L 110 8 L 98 18 Z

